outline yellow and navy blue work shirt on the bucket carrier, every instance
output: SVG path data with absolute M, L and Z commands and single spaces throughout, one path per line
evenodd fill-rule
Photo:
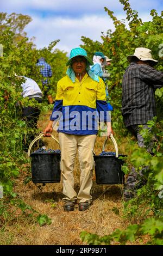
M 59 132 L 74 135 L 97 134 L 98 121 L 110 121 L 105 84 L 87 73 L 73 83 L 65 76 L 57 84 L 57 96 L 51 120 L 59 119 Z

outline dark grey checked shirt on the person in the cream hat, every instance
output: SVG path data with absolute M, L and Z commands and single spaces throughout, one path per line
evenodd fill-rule
M 122 81 L 122 115 L 126 127 L 153 119 L 156 115 L 154 89 L 162 86 L 163 72 L 146 64 L 130 63 Z

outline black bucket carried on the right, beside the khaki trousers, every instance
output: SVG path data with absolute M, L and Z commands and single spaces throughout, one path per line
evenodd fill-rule
M 94 160 L 97 184 L 124 183 L 124 173 L 121 170 L 123 160 L 115 156 L 94 156 Z

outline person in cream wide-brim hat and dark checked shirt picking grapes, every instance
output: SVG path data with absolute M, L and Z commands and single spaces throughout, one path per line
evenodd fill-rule
M 143 125 L 148 128 L 147 121 L 152 120 L 156 115 L 154 90 L 162 87 L 163 73 L 153 68 L 158 60 L 152 58 L 151 50 L 148 48 L 136 48 L 134 54 L 127 59 L 130 65 L 122 81 L 123 121 L 127 129 L 137 138 L 139 147 L 144 148 L 145 144 L 138 126 Z M 157 84 L 161 85 L 157 86 Z M 147 151 L 152 153 L 151 147 Z M 134 197 L 136 178 L 137 173 L 133 167 L 124 185 L 125 200 Z

